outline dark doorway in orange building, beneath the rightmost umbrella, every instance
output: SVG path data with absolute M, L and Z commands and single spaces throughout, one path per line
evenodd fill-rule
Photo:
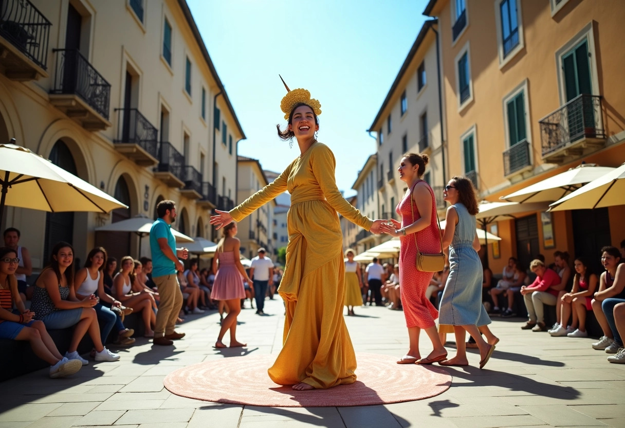
M 584 257 L 597 275 L 604 271 L 601 265 L 601 248 L 612 245 L 607 208 L 572 210 L 573 257 Z

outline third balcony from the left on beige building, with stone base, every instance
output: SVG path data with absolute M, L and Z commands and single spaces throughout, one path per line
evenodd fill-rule
M 158 130 L 136 108 L 116 108 L 118 139 L 115 148 L 140 166 L 158 163 Z

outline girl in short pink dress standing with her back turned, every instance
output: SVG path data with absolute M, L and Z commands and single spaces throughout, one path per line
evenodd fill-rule
M 235 238 L 237 227 L 232 222 L 224 227 L 224 236 L 217 243 L 217 252 L 212 259 L 212 271 L 217 272 L 215 282 L 212 285 L 211 298 L 214 300 L 223 300 L 226 303 L 228 315 L 221 322 L 221 330 L 215 343 L 216 348 L 225 348 L 226 345 L 221 341 L 230 330 L 230 347 L 246 346 L 236 340 L 236 317 L 241 312 L 241 299 L 245 298 L 245 289 L 243 288 L 243 280 L 251 284 L 252 280 L 247 277 L 247 273 L 241 265 L 239 257 L 239 247 L 241 241 Z M 217 267 L 219 260 L 219 267 Z

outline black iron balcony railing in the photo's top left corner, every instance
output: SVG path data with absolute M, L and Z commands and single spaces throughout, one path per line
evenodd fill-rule
M 51 25 L 28 0 L 0 1 L 0 36 L 44 70 Z

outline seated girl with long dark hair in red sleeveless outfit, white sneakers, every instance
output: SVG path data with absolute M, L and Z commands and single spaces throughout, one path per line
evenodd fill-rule
M 588 337 L 586 332 L 586 311 L 592 310 L 592 298 L 597 288 L 597 275 L 591 272 L 588 263 L 582 257 L 575 259 L 575 276 L 570 293 L 564 293 L 558 300 L 560 318 L 556 329 L 549 330 L 552 336 Z M 567 326 L 572 316 L 571 325 Z M 577 323 L 579 322 L 579 327 Z

